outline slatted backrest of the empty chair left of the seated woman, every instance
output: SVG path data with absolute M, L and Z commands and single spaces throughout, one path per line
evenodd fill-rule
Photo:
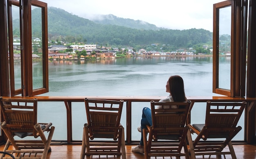
M 96 100 L 85 98 L 85 109 L 90 139 L 117 139 L 121 129 L 121 113 L 124 100 Z

